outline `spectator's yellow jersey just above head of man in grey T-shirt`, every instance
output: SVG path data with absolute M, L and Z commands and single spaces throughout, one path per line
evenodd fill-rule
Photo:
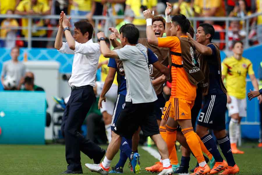
M 130 6 L 134 11 L 135 17 L 143 17 L 143 19 L 134 19 L 134 25 L 146 25 L 141 5 L 146 6 L 148 9 L 152 9 L 157 5 L 157 0 L 126 0 L 125 4 Z

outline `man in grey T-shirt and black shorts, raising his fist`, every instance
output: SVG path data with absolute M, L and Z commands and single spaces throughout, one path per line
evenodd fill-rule
M 112 137 L 103 162 L 100 165 L 86 164 L 86 167 L 91 169 L 91 171 L 107 174 L 109 165 L 120 147 L 121 136 L 127 139 L 132 138 L 134 132 L 140 126 L 144 134 L 151 136 L 155 141 L 163 158 L 164 170 L 160 174 L 173 173 L 166 143 L 159 134 L 156 118 L 151 115 L 153 112 L 153 101 L 157 100 L 157 97 L 149 76 L 147 54 L 149 50 L 147 51 L 145 46 L 137 44 L 139 38 L 138 29 L 130 25 L 124 27 L 120 35 L 123 48 L 114 51 L 111 51 L 106 46 L 105 41 L 102 41 L 105 38 L 104 33 L 100 32 L 97 35 L 100 38 L 101 53 L 105 57 L 120 59 L 123 62 L 127 79 L 127 94 L 124 109 L 116 122 L 116 136 Z M 136 159 L 137 157 L 135 156 L 138 155 L 134 154 L 134 157 L 131 159 Z

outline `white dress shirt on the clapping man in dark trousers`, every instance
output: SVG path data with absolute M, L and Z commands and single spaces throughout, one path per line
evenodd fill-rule
M 100 56 L 100 47 L 98 43 L 93 43 L 92 39 L 86 43 L 75 41 L 75 50 L 71 50 L 68 43 L 64 43 L 61 53 L 74 54 L 72 75 L 68 81 L 70 86 L 95 86 L 95 75 L 98 67 Z

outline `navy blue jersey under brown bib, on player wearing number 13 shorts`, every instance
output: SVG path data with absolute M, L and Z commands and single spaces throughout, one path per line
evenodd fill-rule
M 219 72 L 219 66 L 217 65 L 218 64 L 217 61 L 214 62 L 214 60 L 217 60 L 216 48 L 213 44 L 210 44 L 207 47 L 212 49 L 212 55 L 206 56 L 207 63 L 209 66 L 209 92 L 208 94 L 224 94 L 223 90 L 221 89 L 221 85 L 220 85 L 221 72 Z

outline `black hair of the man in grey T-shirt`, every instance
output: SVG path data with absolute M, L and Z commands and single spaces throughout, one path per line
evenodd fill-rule
M 121 28 L 121 33 L 123 33 L 123 37 L 127 38 L 128 43 L 137 44 L 139 38 L 139 30 L 134 26 L 134 24 L 125 24 Z

